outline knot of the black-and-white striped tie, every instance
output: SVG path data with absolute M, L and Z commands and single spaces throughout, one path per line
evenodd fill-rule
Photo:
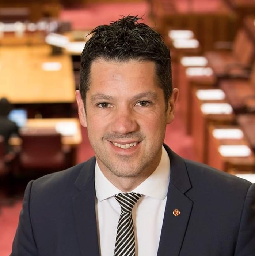
M 121 205 L 122 212 L 132 212 L 134 205 L 137 203 L 141 196 L 141 194 L 131 192 L 116 194 L 114 197 Z

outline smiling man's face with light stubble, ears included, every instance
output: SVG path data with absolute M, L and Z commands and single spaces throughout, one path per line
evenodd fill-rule
M 112 183 L 126 177 L 146 179 L 160 162 L 178 90 L 173 90 L 166 111 L 153 62 L 99 59 L 91 65 L 86 111 L 79 91 L 76 97 L 81 124 L 104 175 Z

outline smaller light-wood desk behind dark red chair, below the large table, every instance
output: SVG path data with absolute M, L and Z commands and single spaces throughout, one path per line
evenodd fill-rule
M 72 133 L 67 133 L 66 126 L 72 125 L 76 127 Z M 60 125 L 60 130 L 57 130 L 57 125 Z M 65 127 L 63 129 L 63 126 Z M 75 165 L 77 158 L 77 147 L 82 142 L 81 127 L 77 118 L 45 118 L 45 119 L 28 119 L 27 125 L 23 129 L 56 129 L 62 134 L 62 144 L 71 147 L 71 162 Z M 72 127 L 71 127 L 72 130 Z M 9 144 L 12 146 L 22 145 L 22 140 L 17 137 L 11 137 Z

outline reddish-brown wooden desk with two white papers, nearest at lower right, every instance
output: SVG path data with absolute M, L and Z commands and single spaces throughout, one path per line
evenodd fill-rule
M 221 135 L 221 138 L 217 138 L 216 134 L 214 133 L 215 130 L 219 132 L 219 130 L 223 129 L 237 129 L 238 134 L 237 136 L 231 137 L 231 132 L 225 134 L 225 136 Z M 210 166 L 217 168 L 222 171 L 226 172 L 238 172 L 238 173 L 252 173 L 255 172 L 255 156 L 252 152 L 250 145 L 246 139 L 246 136 L 240 136 L 242 133 L 240 126 L 237 125 L 209 125 L 208 127 L 208 144 L 206 151 L 208 153 L 208 162 Z M 218 133 L 219 134 L 219 133 Z M 244 145 L 247 146 L 247 150 L 250 153 L 247 156 L 238 155 L 237 152 L 236 156 L 224 156 L 220 153 L 219 149 L 220 146 L 233 146 L 233 145 Z

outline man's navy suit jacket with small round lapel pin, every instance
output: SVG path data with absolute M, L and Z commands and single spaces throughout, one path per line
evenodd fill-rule
M 157 256 L 254 256 L 255 184 L 165 148 L 171 175 Z M 93 157 L 28 183 L 11 256 L 99 256 L 94 170 Z

